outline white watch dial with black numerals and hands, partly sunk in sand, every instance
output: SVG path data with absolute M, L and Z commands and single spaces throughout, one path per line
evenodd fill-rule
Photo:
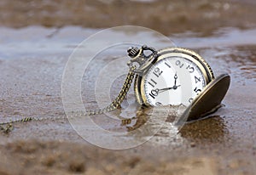
M 143 76 L 143 98 L 156 105 L 189 105 L 207 85 L 202 67 L 193 59 L 171 56 L 159 59 Z

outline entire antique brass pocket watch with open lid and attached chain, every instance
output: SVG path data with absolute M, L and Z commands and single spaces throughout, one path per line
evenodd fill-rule
M 133 79 L 135 96 L 142 106 L 188 106 L 183 113 L 187 117 L 182 117 L 177 123 L 200 119 L 221 107 L 221 101 L 230 86 L 230 76 L 224 74 L 214 78 L 210 65 L 194 51 L 187 48 L 163 48 L 157 51 L 144 45 L 142 48 L 128 48 L 127 53 L 131 57 L 127 63 L 129 72 L 116 99 L 103 109 L 86 110 L 79 116 L 102 114 L 119 108 Z M 0 122 L 0 130 L 9 133 L 13 128 L 12 123 L 44 119 L 49 118 L 25 117 Z

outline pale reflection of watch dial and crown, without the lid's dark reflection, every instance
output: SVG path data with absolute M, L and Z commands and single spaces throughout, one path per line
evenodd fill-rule
M 126 119 L 122 124 L 127 128 L 127 136 L 132 138 L 150 139 L 154 144 L 182 144 L 183 139 L 178 134 L 179 127 L 175 122 L 182 117 L 185 108 L 183 105 L 140 108 L 136 112 L 135 123 Z

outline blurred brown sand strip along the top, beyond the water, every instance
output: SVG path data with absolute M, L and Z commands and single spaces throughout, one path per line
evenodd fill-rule
M 256 25 L 254 0 L 1 0 L 0 26 L 142 25 L 163 34 L 211 34 L 219 27 Z

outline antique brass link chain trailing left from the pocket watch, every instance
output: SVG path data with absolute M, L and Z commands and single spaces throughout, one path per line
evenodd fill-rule
M 125 82 L 119 92 L 119 95 L 113 100 L 113 102 L 111 104 L 109 104 L 107 107 L 105 107 L 101 110 L 88 110 L 88 111 L 86 111 L 86 113 L 84 115 L 92 116 L 92 115 L 103 114 L 105 112 L 110 112 L 110 111 L 118 109 L 121 106 L 121 103 L 124 101 L 125 96 L 128 93 L 129 89 L 131 88 L 131 82 L 134 78 L 135 69 L 136 69 L 135 65 L 132 65 L 130 67 L 130 71 L 128 72 L 128 74 L 125 78 Z M 61 117 L 57 117 L 57 118 L 55 117 L 54 119 L 63 119 L 63 118 L 66 118 L 66 117 L 61 116 Z M 14 121 L 0 122 L 0 131 L 3 131 L 3 133 L 10 133 L 13 130 L 13 124 L 17 123 L 17 122 L 23 123 L 23 122 L 27 122 L 27 121 L 43 121 L 43 120 L 50 120 L 50 119 L 52 119 L 52 118 L 51 117 L 25 117 L 25 118 L 17 119 Z M 3 126 L 5 126 L 5 127 L 3 127 Z

